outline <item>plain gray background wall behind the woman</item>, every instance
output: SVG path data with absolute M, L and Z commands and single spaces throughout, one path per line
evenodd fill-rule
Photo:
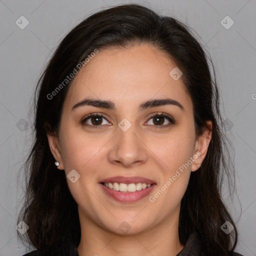
M 17 182 L 17 173 L 31 143 L 28 107 L 40 72 L 60 39 L 85 16 L 129 2 L 0 0 L 0 256 L 25 252 L 15 230 L 22 199 L 22 179 Z M 240 234 L 236 251 L 256 255 L 256 1 L 134 2 L 188 24 L 212 57 L 224 102 L 223 117 L 228 118 L 228 135 L 235 148 L 240 218 L 237 197 L 233 204 L 225 194 L 223 197 Z M 21 15 L 29 21 L 24 29 L 15 24 Z M 234 21 L 229 29 L 220 23 L 226 15 Z

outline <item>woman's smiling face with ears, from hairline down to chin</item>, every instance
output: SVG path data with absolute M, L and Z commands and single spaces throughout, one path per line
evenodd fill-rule
M 195 135 L 192 102 L 182 76 L 170 76 L 174 67 L 141 44 L 99 50 L 74 77 L 58 137 L 48 140 L 74 181 L 67 178 L 80 222 L 135 234 L 177 220 L 193 162 L 202 162 L 209 141 Z

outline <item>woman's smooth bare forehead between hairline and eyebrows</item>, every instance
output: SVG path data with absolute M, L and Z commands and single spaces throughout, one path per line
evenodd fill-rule
M 166 53 L 147 44 L 99 50 L 74 77 L 64 106 L 70 108 L 85 97 L 110 99 L 117 107 L 171 97 L 189 108 L 182 76 L 174 80 L 169 75 L 174 67 Z

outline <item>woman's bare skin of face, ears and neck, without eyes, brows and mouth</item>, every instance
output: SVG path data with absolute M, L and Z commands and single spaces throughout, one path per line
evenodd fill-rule
M 182 76 L 174 80 L 175 67 L 164 52 L 147 44 L 99 50 L 74 77 L 63 103 L 58 136 L 48 142 L 58 169 L 66 175 L 75 169 L 80 178 L 69 189 L 78 204 L 81 224 L 80 256 L 94 255 L 176 255 L 183 244 L 178 238 L 180 201 L 195 164 L 188 168 L 154 202 L 148 196 L 132 203 L 118 202 L 105 194 L 98 182 L 112 176 L 142 176 L 154 180 L 153 195 L 174 175 L 189 157 L 198 166 L 211 139 L 211 122 L 203 135 L 196 137 L 192 101 L 185 91 Z M 89 97 L 111 100 L 116 110 L 82 106 Z M 182 104 L 163 105 L 138 111 L 149 99 L 171 98 Z M 158 128 L 151 115 L 163 112 L 175 124 Z M 90 113 L 103 114 L 98 128 L 80 121 Z M 131 127 L 123 131 L 118 123 L 126 118 Z M 163 117 L 162 117 L 163 118 Z M 93 118 L 85 123 L 93 125 Z M 170 123 L 166 118 L 161 125 Z M 107 125 L 110 124 L 110 125 Z M 95 121 L 94 121 L 95 126 Z M 118 226 L 126 221 L 130 229 Z

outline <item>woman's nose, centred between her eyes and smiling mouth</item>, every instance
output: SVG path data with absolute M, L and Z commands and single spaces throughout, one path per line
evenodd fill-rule
M 124 167 L 140 165 L 147 160 L 146 148 L 145 141 L 143 141 L 142 135 L 136 132 L 135 125 L 131 125 L 126 131 L 118 127 L 108 158 L 111 163 Z

